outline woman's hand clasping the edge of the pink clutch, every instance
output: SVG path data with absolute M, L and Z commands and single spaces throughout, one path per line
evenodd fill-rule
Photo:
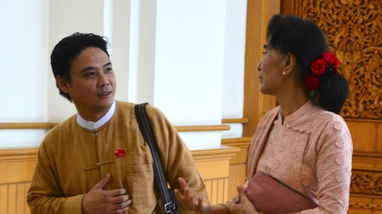
M 258 214 L 252 202 L 247 198 L 242 186 L 237 187 L 239 196 L 235 197 L 231 201 L 231 214 Z

